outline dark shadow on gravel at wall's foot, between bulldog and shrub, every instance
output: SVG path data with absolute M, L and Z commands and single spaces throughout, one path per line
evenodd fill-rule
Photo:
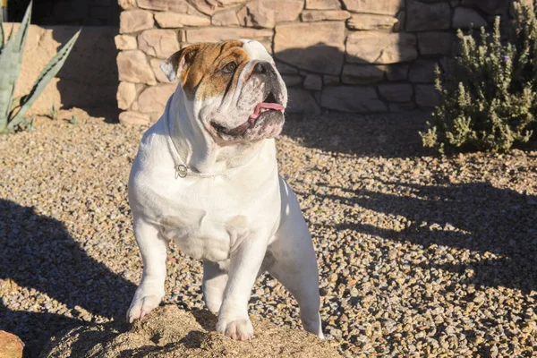
M 288 115 L 283 134 L 303 146 L 359 157 L 409 158 L 430 154 L 418 132 L 430 112 L 383 115 L 330 112 L 320 116 Z

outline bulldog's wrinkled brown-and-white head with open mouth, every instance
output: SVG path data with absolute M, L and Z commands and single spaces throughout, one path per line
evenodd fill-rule
M 161 68 L 171 81 L 179 77 L 187 106 L 215 141 L 257 141 L 281 132 L 286 85 L 260 42 L 192 45 Z

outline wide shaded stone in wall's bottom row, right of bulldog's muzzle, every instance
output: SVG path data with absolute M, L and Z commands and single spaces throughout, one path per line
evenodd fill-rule
M 373 87 L 327 86 L 322 90 L 321 106 L 343 112 L 386 112 L 388 107 Z

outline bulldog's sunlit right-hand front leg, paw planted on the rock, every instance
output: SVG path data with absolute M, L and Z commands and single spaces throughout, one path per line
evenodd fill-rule
M 217 331 L 233 339 L 249 340 L 253 327 L 248 317 L 251 287 L 267 251 L 267 239 L 251 236 L 232 252 L 224 300 L 218 311 Z

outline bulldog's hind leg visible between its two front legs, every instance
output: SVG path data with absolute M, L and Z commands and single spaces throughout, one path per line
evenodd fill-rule
M 227 284 L 227 272 L 216 262 L 203 261 L 203 301 L 213 313 L 217 313 L 224 299 Z

